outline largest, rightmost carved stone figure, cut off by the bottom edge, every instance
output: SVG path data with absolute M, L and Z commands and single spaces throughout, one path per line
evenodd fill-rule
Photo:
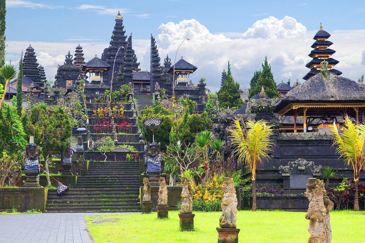
M 333 202 L 326 194 L 323 180 L 310 178 L 304 194 L 309 200 L 305 216 L 309 220 L 308 232 L 311 234 L 308 243 L 330 243 L 332 240 L 330 211 Z

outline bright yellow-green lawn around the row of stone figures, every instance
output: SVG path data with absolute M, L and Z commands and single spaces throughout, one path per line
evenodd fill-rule
M 180 232 L 178 211 L 169 219 L 149 215 L 85 216 L 95 243 L 215 243 L 218 241 L 219 212 L 195 212 L 195 232 Z M 240 243 L 308 242 L 308 220 L 305 212 L 238 211 L 237 228 Z M 331 212 L 332 243 L 364 242 L 365 212 Z M 354 230 L 355 228 L 355 230 Z

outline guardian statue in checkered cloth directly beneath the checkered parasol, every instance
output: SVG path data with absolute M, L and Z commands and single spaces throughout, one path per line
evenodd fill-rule
M 160 172 L 161 171 L 161 144 L 153 142 L 145 145 L 145 162 L 147 162 L 148 172 Z

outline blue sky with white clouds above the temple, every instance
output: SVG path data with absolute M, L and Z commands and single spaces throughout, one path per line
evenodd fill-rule
M 320 21 L 324 30 L 332 35 L 329 40 L 337 44 L 333 45 L 333 49 L 340 54 L 334 54 L 333 58 L 340 61 L 343 70 L 340 64 L 336 68 L 352 79 L 360 77 L 364 72 L 353 73 L 352 63 L 342 63 L 353 60 L 350 62 L 357 62 L 364 70 L 363 1 L 332 1 L 327 4 L 318 0 L 7 0 L 6 58 L 18 60 L 20 52 L 28 46 L 26 43 L 32 44 L 36 54 L 41 55 L 40 63 L 41 60 L 46 62 L 41 64 L 45 67 L 47 77 L 54 77 L 57 64 L 62 64 L 65 52 L 74 52 L 77 44 L 85 46 L 87 59 L 94 52 L 101 54 L 103 48 L 109 44 L 118 10 L 122 13 L 127 34 L 133 33 L 134 49 L 142 69 L 149 68 L 150 33 L 156 38 L 161 60 L 165 57 L 162 55 L 167 53 L 170 57 L 173 56 L 172 52 L 175 52 L 176 45 L 182 39 L 191 38 L 193 44 L 184 43 L 185 46 L 179 50 L 177 56 L 184 55 L 188 61 L 194 62 L 192 64 L 198 67 L 195 79 L 206 77 L 208 86 L 212 89 L 219 89 L 217 83 L 220 72 L 226 67 L 228 60 L 233 63 L 236 81 L 247 86 L 253 72 L 260 68 L 265 55 L 268 55 L 272 63 L 276 82 L 287 78 L 294 81 L 296 78 L 301 79 L 309 71 L 303 66 L 310 60 L 306 56 L 311 51 L 311 38 L 318 30 Z M 289 26 L 283 24 L 280 29 L 276 29 L 285 16 L 291 18 L 287 19 L 290 23 L 295 23 Z M 288 22 L 287 20 L 284 22 Z M 257 21 L 259 23 L 254 26 Z M 167 24 L 168 22 L 173 22 L 174 25 Z M 254 34 L 248 35 L 250 28 L 251 32 L 254 30 Z M 242 34 L 245 37 L 242 38 Z M 350 40 L 346 42 L 346 38 Z M 353 42 L 356 45 L 351 48 L 349 45 Z M 205 50 L 206 46 L 210 46 L 210 49 Z M 234 50 L 235 47 L 239 49 Z M 272 52 L 273 49 L 280 51 Z M 255 52 L 257 58 L 253 55 Z M 349 52 L 353 52 L 352 57 Z M 303 60 L 299 62 L 299 59 Z M 290 70 L 291 66 L 293 70 Z

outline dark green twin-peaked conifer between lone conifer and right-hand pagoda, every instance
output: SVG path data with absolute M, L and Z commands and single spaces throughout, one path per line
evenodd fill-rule
M 267 56 L 265 56 L 265 61 L 264 63 L 261 64 L 262 66 L 262 71 L 260 74 L 260 77 L 257 80 L 257 84 L 254 87 L 254 89 L 252 89 L 251 87 L 251 93 L 253 92 L 253 94 L 258 94 L 261 91 L 261 87 L 264 87 L 265 93 L 269 98 L 279 98 L 279 92 L 277 91 L 277 87 L 276 87 L 276 83 L 274 81 L 274 77 L 273 74 L 271 72 L 271 66 L 268 63 L 268 58 Z

